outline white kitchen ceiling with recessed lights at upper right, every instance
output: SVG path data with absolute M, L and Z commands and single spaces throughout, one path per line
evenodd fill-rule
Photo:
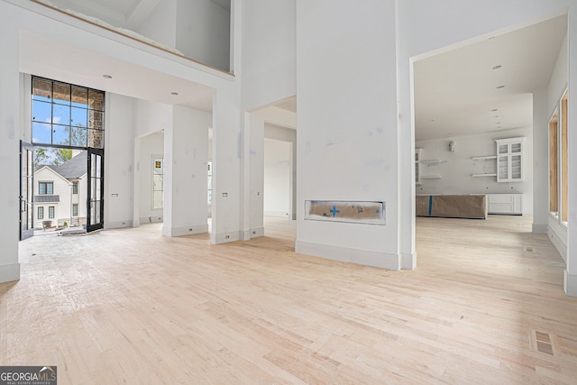
M 556 17 L 416 61 L 416 140 L 530 127 L 566 29 Z

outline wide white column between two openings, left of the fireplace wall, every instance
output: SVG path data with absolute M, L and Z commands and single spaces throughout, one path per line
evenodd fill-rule
M 164 131 L 164 223 L 162 234 L 206 233 L 208 127 L 211 115 L 174 106 Z

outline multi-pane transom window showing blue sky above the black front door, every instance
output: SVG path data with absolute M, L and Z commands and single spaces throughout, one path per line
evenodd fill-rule
M 104 148 L 105 92 L 32 77 L 32 144 Z

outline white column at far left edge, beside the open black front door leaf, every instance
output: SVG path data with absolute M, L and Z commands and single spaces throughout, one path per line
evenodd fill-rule
M 0 282 L 20 280 L 18 239 L 20 221 L 20 76 L 18 29 L 3 21 L 0 26 Z

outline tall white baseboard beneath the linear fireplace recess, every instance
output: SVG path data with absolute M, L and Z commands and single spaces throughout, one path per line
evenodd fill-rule
M 333 261 L 351 262 L 388 270 L 400 270 L 399 255 L 389 254 L 387 252 L 370 252 L 367 250 L 349 249 L 346 247 L 303 241 L 297 241 L 295 243 L 295 252 Z

